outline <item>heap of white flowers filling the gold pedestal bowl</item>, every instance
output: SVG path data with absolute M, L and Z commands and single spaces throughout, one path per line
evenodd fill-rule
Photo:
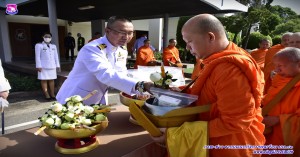
M 75 95 L 66 99 L 65 104 L 53 102 L 48 111 L 38 119 L 42 126 L 51 129 L 75 129 L 107 120 L 109 106 L 94 104 L 84 105 L 83 99 Z

